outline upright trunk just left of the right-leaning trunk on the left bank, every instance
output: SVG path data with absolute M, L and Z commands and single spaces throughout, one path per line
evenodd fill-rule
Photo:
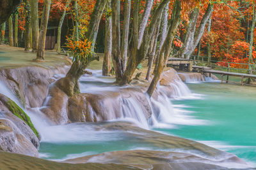
M 38 0 L 30 0 L 31 6 L 31 28 L 32 28 L 32 51 L 37 51 L 38 35 L 39 35 L 39 20 L 38 20 Z

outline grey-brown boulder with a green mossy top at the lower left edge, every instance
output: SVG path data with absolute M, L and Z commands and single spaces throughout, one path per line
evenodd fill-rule
M 0 108 L 0 150 L 38 157 L 40 135 L 28 115 L 3 94 Z

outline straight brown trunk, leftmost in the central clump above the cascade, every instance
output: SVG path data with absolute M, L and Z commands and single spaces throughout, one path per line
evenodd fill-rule
M 122 81 L 124 74 L 124 63 L 120 51 L 120 1 L 112 1 L 112 54 L 113 65 L 116 74 L 116 82 Z

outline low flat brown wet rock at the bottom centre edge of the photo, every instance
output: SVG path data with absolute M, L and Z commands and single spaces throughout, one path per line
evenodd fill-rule
M 225 169 L 214 165 L 216 162 L 196 157 L 189 153 L 159 152 L 149 150 L 129 150 L 106 152 L 77 159 L 65 160 L 67 163 L 102 163 L 124 164 L 141 169 Z

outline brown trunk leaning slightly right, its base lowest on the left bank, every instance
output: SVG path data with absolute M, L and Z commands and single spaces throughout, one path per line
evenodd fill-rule
M 45 54 L 45 37 L 47 32 L 47 25 L 49 19 L 49 12 L 51 8 L 51 0 L 44 0 L 44 10 L 41 18 L 40 33 L 38 39 L 38 48 L 36 53 L 36 60 L 44 60 Z

